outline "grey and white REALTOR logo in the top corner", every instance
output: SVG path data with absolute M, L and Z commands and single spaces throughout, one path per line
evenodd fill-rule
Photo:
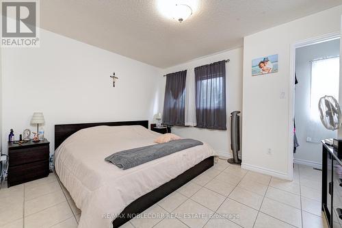
M 38 1 L 1 1 L 1 47 L 38 47 Z

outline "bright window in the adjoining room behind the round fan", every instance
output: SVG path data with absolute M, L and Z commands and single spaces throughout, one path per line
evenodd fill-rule
M 312 121 L 319 121 L 318 102 L 332 96 L 339 101 L 339 58 L 311 62 L 310 113 Z

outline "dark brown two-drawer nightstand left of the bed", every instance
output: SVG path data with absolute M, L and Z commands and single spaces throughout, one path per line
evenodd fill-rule
M 50 142 L 8 142 L 8 188 L 49 175 Z

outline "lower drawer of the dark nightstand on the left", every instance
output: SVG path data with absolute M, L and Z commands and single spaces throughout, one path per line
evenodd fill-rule
M 49 175 L 49 160 L 8 167 L 8 187 Z

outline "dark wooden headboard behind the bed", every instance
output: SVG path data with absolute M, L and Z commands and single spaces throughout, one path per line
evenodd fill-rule
M 122 126 L 122 125 L 142 125 L 148 129 L 148 121 L 122 121 L 122 122 L 107 122 L 107 123 L 76 123 L 67 125 L 55 125 L 55 149 L 60 147 L 60 144 L 75 132 L 96 126 Z

